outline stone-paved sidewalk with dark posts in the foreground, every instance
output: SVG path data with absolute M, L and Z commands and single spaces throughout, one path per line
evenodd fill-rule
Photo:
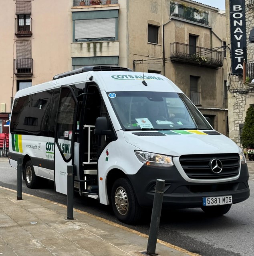
M 148 237 L 111 221 L 0 187 L 0 255 L 3 256 L 143 256 Z M 161 256 L 197 256 L 157 241 Z

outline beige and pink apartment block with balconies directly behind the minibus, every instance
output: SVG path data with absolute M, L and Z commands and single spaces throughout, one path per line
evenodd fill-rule
M 167 76 L 228 135 L 226 16 L 218 8 L 192 0 L 2 0 L 0 10 L 0 133 L 17 90 L 107 65 Z

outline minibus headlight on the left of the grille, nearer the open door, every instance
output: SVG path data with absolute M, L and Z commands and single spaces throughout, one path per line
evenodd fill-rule
M 171 156 L 165 156 L 155 154 L 151 152 L 135 151 L 135 154 L 139 161 L 146 165 L 158 166 L 158 167 L 171 167 L 173 166 L 173 160 Z

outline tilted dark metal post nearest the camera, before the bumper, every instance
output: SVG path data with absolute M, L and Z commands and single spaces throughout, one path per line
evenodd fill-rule
M 161 218 L 161 207 L 163 202 L 164 186 L 165 180 L 158 179 L 156 181 L 146 255 L 156 255 L 155 249 L 159 232 L 159 221 Z

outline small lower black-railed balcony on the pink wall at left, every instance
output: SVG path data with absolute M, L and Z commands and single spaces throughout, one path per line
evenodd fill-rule
M 14 74 L 16 76 L 32 76 L 33 59 L 14 59 Z

